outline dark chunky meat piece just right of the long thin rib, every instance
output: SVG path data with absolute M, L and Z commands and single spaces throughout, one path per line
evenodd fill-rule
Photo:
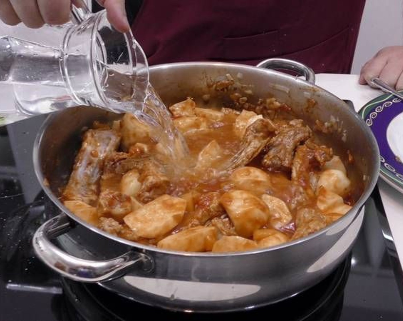
M 311 135 L 312 131 L 303 125 L 302 120 L 292 120 L 287 126 L 281 127 L 267 145 L 263 167 L 273 171 L 291 170 L 295 149 Z

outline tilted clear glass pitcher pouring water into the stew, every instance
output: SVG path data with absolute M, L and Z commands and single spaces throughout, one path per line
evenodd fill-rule
M 122 34 L 85 3 L 72 22 L 51 28 L 58 46 L 0 37 L 0 85 L 10 84 L 13 106 L 0 107 L 0 125 L 77 105 L 127 111 L 144 100 L 147 59 L 131 31 Z M 39 30 L 40 32 L 40 30 Z M 49 34 L 49 33 L 48 33 Z

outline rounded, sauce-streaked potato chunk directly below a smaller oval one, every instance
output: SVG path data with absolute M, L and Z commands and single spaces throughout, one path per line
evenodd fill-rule
M 270 217 L 264 202 L 246 191 L 224 193 L 220 203 L 234 223 L 235 231 L 243 237 L 251 237 L 253 231 L 263 227 Z

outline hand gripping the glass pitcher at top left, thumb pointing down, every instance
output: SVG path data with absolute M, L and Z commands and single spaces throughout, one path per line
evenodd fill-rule
M 110 23 L 121 32 L 129 31 L 125 0 L 97 0 L 106 9 Z M 70 20 L 71 4 L 79 0 L 0 0 L 0 19 L 8 25 L 23 22 L 27 27 L 39 28 L 48 23 L 61 25 Z

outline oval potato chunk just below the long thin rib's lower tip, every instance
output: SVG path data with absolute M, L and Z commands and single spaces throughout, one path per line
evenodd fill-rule
M 270 175 L 264 170 L 251 166 L 237 168 L 229 179 L 237 189 L 243 189 L 256 195 L 266 193 L 271 187 Z

